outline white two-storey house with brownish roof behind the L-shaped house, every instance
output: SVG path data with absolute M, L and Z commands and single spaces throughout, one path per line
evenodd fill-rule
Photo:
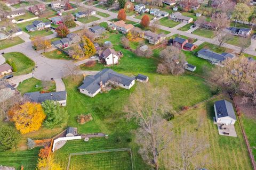
M 117 52 L 112 48 L 107 48 L 105 50 L 100 50 L 98 52 L 100 61 L 106 63 L 106 65 L 117 64 L 119 56 Z

